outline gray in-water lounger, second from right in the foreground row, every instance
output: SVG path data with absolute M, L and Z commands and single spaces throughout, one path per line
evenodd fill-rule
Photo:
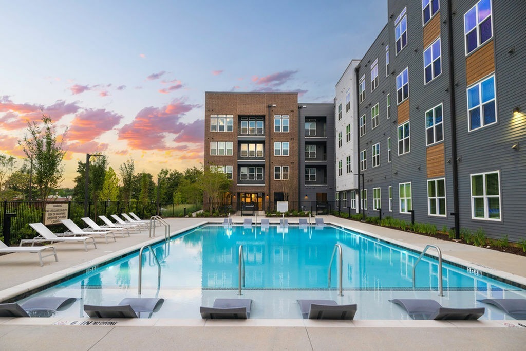
M 466 320 L 479 319 L 485 312 L 484 307 L 448 308 L 442 307 L 432 299 L 396 298 L 390 302 L 400 305 L 413 319 Z

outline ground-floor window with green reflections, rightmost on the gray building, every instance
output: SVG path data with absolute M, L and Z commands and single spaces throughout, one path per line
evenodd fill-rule
M 501 220 L 499 172 L 471 175 L 471 218 Z

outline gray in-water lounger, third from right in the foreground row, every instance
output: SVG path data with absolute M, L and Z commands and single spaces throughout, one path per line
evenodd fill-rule
M 352 319 L 357 305 L 338 305 L 335 300 L 299 299 L 298 304 L 304 319 Z

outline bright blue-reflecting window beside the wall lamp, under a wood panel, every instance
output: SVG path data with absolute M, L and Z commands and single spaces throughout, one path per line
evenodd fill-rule
M 497 122 L 495 76 L 468 87 L 469 130 Z

